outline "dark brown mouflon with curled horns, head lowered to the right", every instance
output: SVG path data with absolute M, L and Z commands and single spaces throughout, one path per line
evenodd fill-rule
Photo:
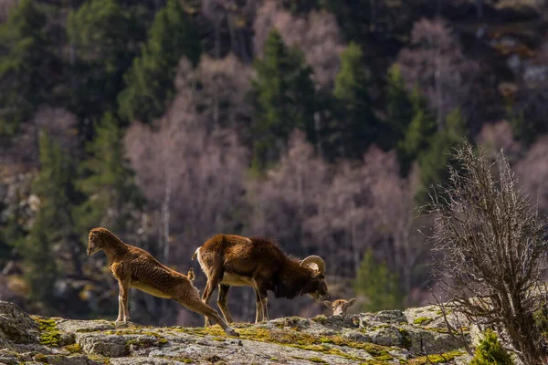
M 323 259 L 316 255 L 303 260 L 291 258 L 273 239 L 216 235 L 196 249 L 192 258 L 196 256 L 207 276 L 202 298 L 205 304 L 209 303 L 218 286 L 217 305 L 228 323 L 234 321 L 227 307 L 231 286 L 255 289 L 256 323 L 269 320 L 268 290 L 274 292 L 274 297 L 293 298 L 309 294 L 319 302 L 329 299 Z M 205 325 L 208 324 L 209 319 L 205 318 Z

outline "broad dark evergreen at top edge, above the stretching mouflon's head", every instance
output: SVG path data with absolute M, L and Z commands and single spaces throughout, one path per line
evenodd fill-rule
M 115 0 L 89 0 L 70 12 L 68 39 L 76 53 L 72 104 L 80 117 L 100 118 L 117 107 L 123 75 L 145 37 L 141 13 L 141 7 L 123 8 Z

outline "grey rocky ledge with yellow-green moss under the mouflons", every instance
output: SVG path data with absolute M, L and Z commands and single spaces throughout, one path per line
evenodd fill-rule
M 453 318 L 455 319 L 455 318 Z M 465 364 L 437 307 L 276 318 L 220 327 L 144 327 L 29 316 L 0 301 L 0 364 Z M 469 334 L 463 328 L 466 340 Z

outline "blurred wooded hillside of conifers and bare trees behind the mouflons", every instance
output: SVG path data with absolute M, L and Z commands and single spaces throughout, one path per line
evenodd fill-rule
M 356 311 L 425 304 L 416 207 L 462 137 L 548 212 L 547 1 L 4 0 L 0 21 L 0 300 L 32 313 L 114 318 L 100 225 L 201 290 L 198 245 L 266 235 L 324 257 Z M 131 300 L 142 324 L 203 321 Z M 250 288 L 230 302 L 253 318 Z

